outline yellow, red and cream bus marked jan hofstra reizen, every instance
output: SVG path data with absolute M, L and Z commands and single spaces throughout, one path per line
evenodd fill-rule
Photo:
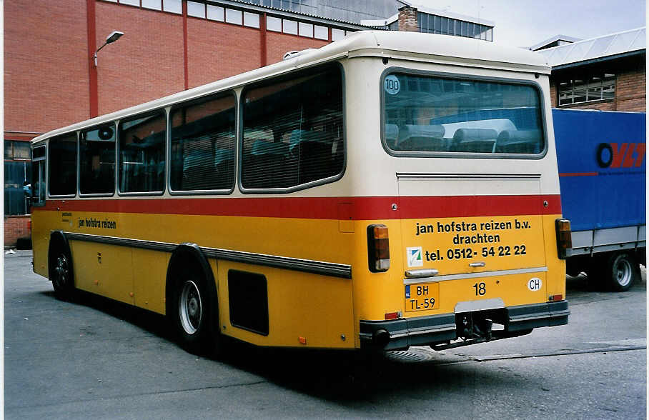
M 568 322 L 542 56 L 362 31 L 34 139 L 34 271 L 188 349 L 433 349 Z

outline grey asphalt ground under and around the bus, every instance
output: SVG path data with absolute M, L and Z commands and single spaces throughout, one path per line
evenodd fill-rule
M 447 351 L 179 348 L 164 317 L 59 301 L 4 259 L 6 419 L 643 419 L 646 274 L 625 293 L 568 277 L 567 326 Z

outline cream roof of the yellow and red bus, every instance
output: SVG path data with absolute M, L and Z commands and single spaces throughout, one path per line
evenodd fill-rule
M 550 74 L 550 66 L 546 63 L 544 56 L 527 49 L 502 46 L 490 41 L 462 38 L 460 36 L 405 31 L 357 31 L 345 37 L 345 39 L 332 42 L 332 44 L 327 44 L 319 49 L 309 49 L 302 54 L 297 54 L 294 58 L 55 129 L 37 136 L 31 142 L 38 143 L 44 139 L 49 139 L 51 136 L 85 129 L 96 124 L 104 124 L 143 111 L 163 108 L 164 106 L 177 104 L 213 92 L 235 89 L 244 84 L 267 79 L 294 69 L 345 57 L 359 56 L 416 59 L 417 61 L 438 62 L 456 66 Z

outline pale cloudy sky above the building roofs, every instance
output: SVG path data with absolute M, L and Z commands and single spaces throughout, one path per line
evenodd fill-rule
M 494 41 L 531 46 L 558 34 L 588 39 L 646 26 L 644 0 L 412 0 L 494 22 Z

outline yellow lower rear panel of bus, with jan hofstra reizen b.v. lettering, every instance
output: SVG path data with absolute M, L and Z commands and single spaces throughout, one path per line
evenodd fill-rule
M 354 259 L 354 307 L 357 319 L 380 321 L 385 320 L 386 314 L 395 312 L 402 312 L 405 317 L 447 314 L 455 311 L 458 302 L 487 299 L 500 299 L 505 306 L 545 302 L 549 296 L 555 295 L 561 295 L 565 299 L 565 261 L 558 259 L 555 234 L 555 219 L 559 217 L 560 214 L 427 219 L 419 221 L 420 230 L 416 229 L 417 221 L 414 220 L 371 221 L 385 224 L 389 228 L 390 270 L 365 274 L 362 269 L 365 269 L 367 262 L 361 258 Z M 492 224 L 498 224 L 499 228 L 504 229 L 489 230 L 495 233 L 487 234 L 487 241 L 497 242 L 477 244 L 479 246 L 455 246 L 453 242 L 456 233 L 440 234 L 437 232 L 437 223 L 446 226 L 452 221 L 457 224 L 458 220 L 460 223 L 464 221 L 465 224 L 477 224 L 479 231 L 475 234 L 482 234 L 481 224 L 486 223 L 490 224 L 490 228 L 495 227 Z M 368 223 L 370 221 L 358 221 L 356 231 L 360 231 Z M 435 226 L 435 231 L 422 233 L 421 226 L 428 224 Z M 498 238 L 488 239 L 488 235 L 498 235 Z M 354 255 L 362 256 L 365 252 L 363 244 L 357 241 L 356 245 Z M 522 245 L 525 246 L 524 250 Z M 411 266 L 408 264 L 407 249 L 411 247 L 422 249 L 420 256 L 424 261 L 420 262 L 420 266 L 416 262 L 411 262 Z M 470 257 L 468 251 L 462 254 L 462 249 L 469 247 L 472 248 Z M 502 255 L 499 247 L 502 247 Z M 482 248 L 485 248 L 484 254 Z M 428 257 L 426 251 L 429 252 Z M 435 259 L 432 258 L 433 253 Z M 443 258 L 437 259 L 437 255 Z M 470 266 L 475 262 L 483 262 L 485 265 Z M 437 269 L 438 272 L 421 281 L 407 279 L 405 271 L 416 269 Z M 440 281 L 439 278 L 444 276 L 450 278 Z M 532 279 L 539 279 L 540 286 L 533 285 L 533 290 L 530 290 L 527 285 Z M 408 298 L 407 284 L 411 285 Z M 416 284 L 427 284 L 429 289 L 427 294 L 420 289 L 420 299 L 413 303 L 410 299 L 416 299 L 413 297 L 417 296 Z M 424 300 L 426 298 L 427 301 Z

